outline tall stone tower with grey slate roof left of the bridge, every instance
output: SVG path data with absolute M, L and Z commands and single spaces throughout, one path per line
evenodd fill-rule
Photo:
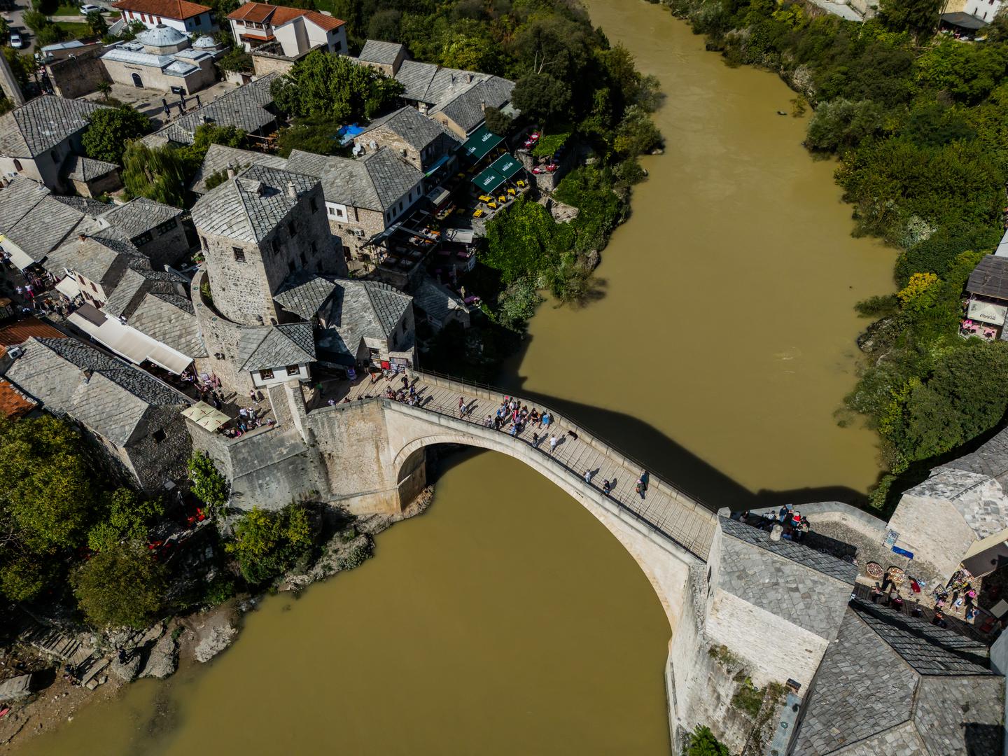
M 251 165 L 201 198 L 193 222 L 214 307 L 232 323 L 275 325 L 273 295 L 295 270 L 346 275 L 317 178 Z

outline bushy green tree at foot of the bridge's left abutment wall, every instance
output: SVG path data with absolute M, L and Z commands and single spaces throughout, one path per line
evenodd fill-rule
M 253 509 L 235 525 L 235 539 L 225 546 L 242 575 L 259 585 L 289 570 L 311 547 L 307 510 L 290 504 L 280 511 Z

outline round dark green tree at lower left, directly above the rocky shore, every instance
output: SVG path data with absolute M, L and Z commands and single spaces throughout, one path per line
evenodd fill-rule
M 136 543 L 115 543 L 74 571 L 85 618 L 96 627 L 141 629 L 157 618 L 166 589 L 164 565 Z

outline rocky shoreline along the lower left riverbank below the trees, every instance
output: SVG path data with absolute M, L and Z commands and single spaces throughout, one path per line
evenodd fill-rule
M 428 486 L 402 512 L 358 518 L 352 535 L 347 530 L 335 533 L 321 544 L 321 555 L 307 569 L 286 573 L 274 583 L 275 590 L 298 592 L 360 565 L 372 555 L 374 536 L 396 522 L 423 513 L 432 499 L 433 487 Z M 43 628 L 22 632 L 16 653 L 8 653 L 0 662 L 3 665 L 22 665 L 23 657 L 31 656 L 38 669 L 51 667 L 53 660 L 61 667 L 68 654 L 91 652 L 85 656 L 87 666 L 77 681 L 57 675 L 44 689 L 7 704 L 11 711 L 0 719 L 0 747 L 10 752 L 34 736 L 73 722 L 80 709 L 114 698 L 135 679 L 166 679 L 175 673 L 179 663 L 211 661 L 238 639 L 244 615 L 255 611 L 264 595 L 236 597 L 213 609 L 172 617 L 145 630 L 76 635 L 48 628 L 44 628 L 47 632 L 40 632 Z M 29 660 L 27 671 L 31 666 Z

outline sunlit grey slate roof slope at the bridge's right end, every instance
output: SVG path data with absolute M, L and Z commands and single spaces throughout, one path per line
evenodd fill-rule
M 718 587 L 821 638 L 837 635 L 851 583 L 739 538 L 722 540 Z

